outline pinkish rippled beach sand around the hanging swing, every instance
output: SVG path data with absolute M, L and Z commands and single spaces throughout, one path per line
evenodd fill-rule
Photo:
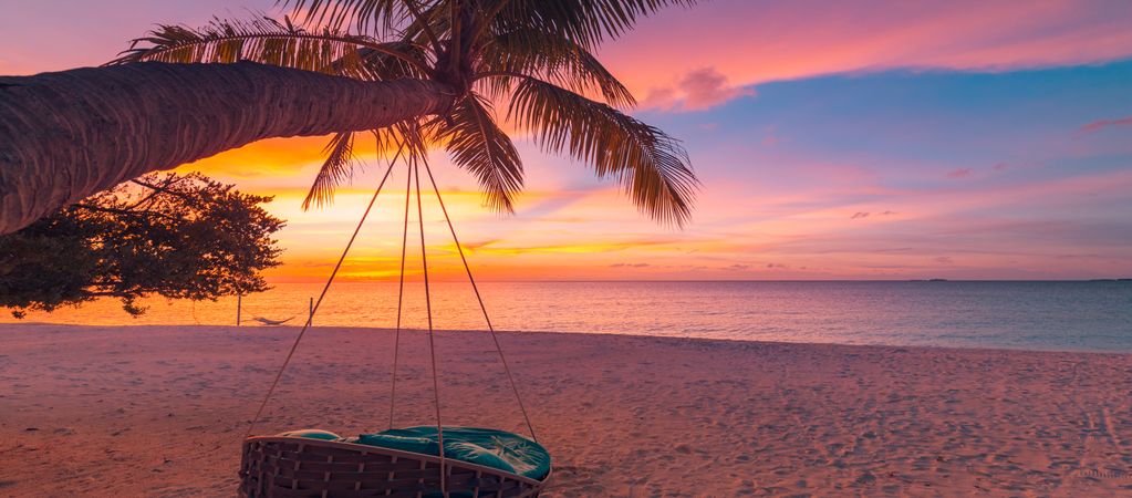
M 231 496 L 294 328 L 0 326 L 0 496 Z M 388 424 L 393 334 L 315 328 L 259 433 Z M 396 424 L 429 424 L 403 336 Z M 544 496 L 1132 495 L 1132 355 L 500 334 Z M 523 432 L 490 336 L 437 335 L 446 424 Z

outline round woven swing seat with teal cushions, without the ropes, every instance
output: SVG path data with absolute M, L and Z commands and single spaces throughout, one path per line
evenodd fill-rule
M 302 432 L 245 441 L 241 497 L 444 497 L 436 427 L 349 439 Z M 461 427 L 444 435 L 448 498 L 533 498 L 549 478 L 550 456 L 522 436 Z

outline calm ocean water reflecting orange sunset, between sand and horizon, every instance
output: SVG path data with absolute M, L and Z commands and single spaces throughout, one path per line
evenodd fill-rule
M 276 284 L 242 298 L 256 317 L 302 325 L 321 284 Z M 743 341 L 1132 352 L 1132 282 L 483 282 L 498 330 Z M 341 282 L 315 326 L 392 327 L 395 282 Z M 235 299 L 117 301 L 29 314 L 23 321 L 235 325 Z M 432 284 L 438 329 L 484 329 L 466 282 Z M 0 321 L 11 323 L 5 314 Z M 403 323 L 426 326 L 423 285 L 406 284 Z

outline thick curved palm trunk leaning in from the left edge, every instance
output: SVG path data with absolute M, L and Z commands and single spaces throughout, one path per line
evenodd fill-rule
M 0 77 L 0 234 L 149 171 L 264 138 L 381 128 L 445 112 L 452 98 L 432 81 L 254 62 Z

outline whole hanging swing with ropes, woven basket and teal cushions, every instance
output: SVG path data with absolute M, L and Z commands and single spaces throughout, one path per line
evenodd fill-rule
M 400 498 L 534 498 L 542 492 L 550 478 L 550 455 L 537 443 L 534 428 L 526 414 L 523 400 L 520 396 L 511 368 L 504 358 L 495 327 L 488 317 L 483 299 L 480 297 L 471 267 L 464 257 L 456 231 L 452 226 L 447 208 L 440 198 L 432 172 L 424 163 L 437 203 L 444 212 L 448 230 L 460 252 L 460 258 L 468 272 L 468 280 L 475 292 L 480 309 L 483 312 L 488 332 L 495 343 L 496 352 L 503 364 L 504 372 L 515 394 L 515 401 L 531 431 L 531 439 L 523 436 L 495 430 L 469 427 L 445 427 L 440 423 L 440 395 L 437 378 L 436 349 L 432 335 L 432 307 L 429 295 L 428 258 L 424 246 L 424 225 L 421 211 L 420 170 L 411 164 L 411 175 L 405 183 L 405 226 L 402 233 L 401 256 L 401 290 L 397 297 L 397 326 L 394 336 L 393 375 L 389 395 L 389 427 L 393 426 L 396 380 L 397 351 L 401 343 L 401 311 L 404 292 L 405 247 L 409 230 L 409 196 L 411 181 L 415 182 L 417 221 L 421 240 L 421 267 L 424 281 L 424 304 L 428 317 L 429 354 L 432 367 L 432 396 L 436 410 L 436 426 L 389 429 L 378 433 L 363 433 L 357 438 L 343 438 L 325 430 L 300 430 L 276 436 L 255 436 L 252 430 L 259 421 L 264 407 L 272 397 L 283 371 L 294 355 L 303 334 L 310 328 L 315 312 L 318 311 L 326 297 L 334 276 L 342 261 L 353 246 L 358 232 L 374 207 L 381 187 L 393 171 L 393 162 L 378 184 L 369 206 L 358 222 L 353 235 L 346 243 L 338 263 L 323 287 L 318 301 L 310 309 L 306 325 L 302 326 L 291 350 L 283 360 L 282 367 L 275 374 L 267 394 L 264 396 L 256 415 L 251 419 L 247 437 L 243 441 L 243 460 L 240 463 L 240 491 L 247 498 L 361 498 L 361 497 L 400 497 Z M 443 441 L 443 444 L 441 444 Z M 444 448 L 441 452 L 440 448 Z

